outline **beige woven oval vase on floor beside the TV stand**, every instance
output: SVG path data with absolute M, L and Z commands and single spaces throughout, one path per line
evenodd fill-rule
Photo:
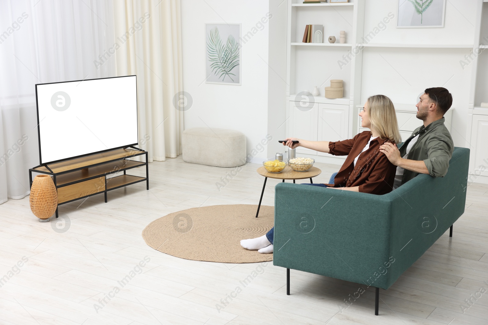
M 34 177 L 29 203 L 32 213 L 40 222 L 48 222 L 58 207 L 58 191 L 51 176 L 42 174 Z

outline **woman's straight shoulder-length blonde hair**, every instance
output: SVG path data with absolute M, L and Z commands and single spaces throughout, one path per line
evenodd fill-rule
M 395 107 L 385 95 L 374 95 L 367 99 L 369 104 L 369 122 L 380 138 L 400 143 L 402 136 L 398 130 Z

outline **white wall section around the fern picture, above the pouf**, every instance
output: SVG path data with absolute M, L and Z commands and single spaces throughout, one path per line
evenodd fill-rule
M 260 24 L 268 12 L 269 1 L 263 0 L 181 1 L 183 90 L 193 99 L 192 107 L 184 114 L 185 129 L 208 126 L 241 131 L 246 135 L 248 154 L 265 139 L 268 134 L 269 20 L 264 27 Z M 240 86 L 204 81 L 204 23 L 212 22 L 242 23 L 242 36 L 255 32 L 252 38 L 242 42 Z M 278 139 L 273 137 L 275 140 Z M 263 149 L 253 162 L 264 160 L 266 155 L 267 150 Z

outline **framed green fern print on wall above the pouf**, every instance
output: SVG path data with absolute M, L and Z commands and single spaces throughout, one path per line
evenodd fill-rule
M 241 24 L 205 23 L 205 82 L 241 85 Z

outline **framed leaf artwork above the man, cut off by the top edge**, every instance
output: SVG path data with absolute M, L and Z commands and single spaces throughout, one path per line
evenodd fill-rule
M 397 28 L 444 27 L 446 0 L 398 0 Z

